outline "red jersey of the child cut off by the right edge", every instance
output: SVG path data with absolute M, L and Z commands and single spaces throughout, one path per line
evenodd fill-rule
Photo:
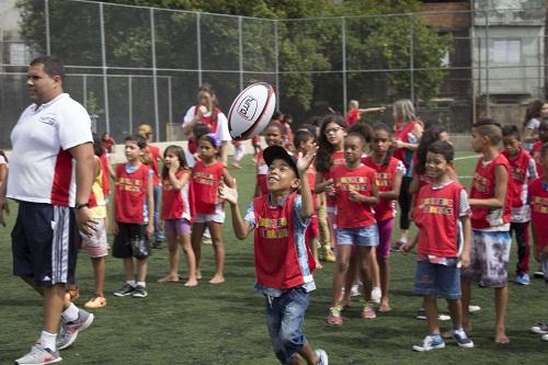
M 533 235 L 536 237 L 537 250 L 548 244 L 548 191 L 544 189 L 543 178 L 533 180 L 529 184 L 530 220 L 533 221 Z

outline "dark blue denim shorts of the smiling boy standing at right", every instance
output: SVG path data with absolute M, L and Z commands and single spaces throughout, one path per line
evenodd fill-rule
M 416 262 L 413 293 L 446 299 L 460 298 L 460 269 L 455 263 L 441 265 L 430 261 Z

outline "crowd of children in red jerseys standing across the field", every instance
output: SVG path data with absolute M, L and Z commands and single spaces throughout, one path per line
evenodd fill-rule
M 197 114 L 190 113 L 191 153 L 172 145 L 161 158 L 150 144 L 152 129 L 142 125 L 124 140 L 126 162 L 113 169 L 109 161 L 113 139 L 95 138 L 89 207 L 98 226 L 93 236 L 82 237 L 94 270 L 94 294 L 84 306 L 106 306 L 109 230 L 115 237 L 112 255 L 123 260 L 125 275 L 115 296 L 147 297 L 147 258 L 164 239 L 169 269 L 159 282 L 183 280 L 181 248 L 187 270 L 184 285 L 198 285 L 206 231 L 215 253 L 209 283 L 224 283 L 227 202 L 235 236 L 244 239 L 254 230 L 255 289 L 265 296 L 269 333 L 283 364 L 299 364 L 299 356 L 307 364 L 328 364 L 327 353 L 313 351 L 301 328 L 309 293 L 316 288 L 315 269 L 321 269 L 322 261 L 335 262 L 328 324 L 343 324 L 344 310 L 356 292 L 363 296 L 362 318 L 373 319 L 391 310 L 389 258 L 395 249 L 409 253 L 416 248 L 413 293 L 423 297 L 427 335 L 412 346 L 414 351 L 442 349 L 446 338 L 460 347 L 473 347 L 467 335 L 472 330 L 472 283 L 493 288 L 494 341 L 509 342 L 505 312 L 512 233 L 518 248 L 515 283 L 529 284 L 532 250 L 548 282 L 548 233 L 543 226 L 548 221 L 546 104 L 532 103 L 523 139 L 515 125 L 501 127 L 493 119 L 473 124 L 471 147 L 480 158 L 468 193 L 458 182 L 448 132 L 436 122 L 421 122 L 409 100 L 396 102 L 393 127 L 357 121 L 361 113 L 384 112 L 384 107 L 361 110 L 354 101 L 351 106 L 346 121 L 330 113 L 295 133 L 293 117 L 274 117 L 262 135 L 267 147 L 263 150 L 260 140 L 252 141 L 256 181 L 243 216 L 236 180 L 221 161 L 222 140 L 203 128 L 212 117 L 201 122 L 205 111 L 198 106 Z M 235 147 L 233 167 L 241 168 L 243 149 L 241 144 Z M 8 159 L 1 153 L 0 180 L 7 170 Z M 111 178 L 114 187 L 109 202 Z M 391 248 L 397 202 L 401 237 Z M 409 236 L 411 223 L 418 227 L 414 237 Z M 149 236 L 155 237 L 152 246 Z M 447 299 L 453 321 L 448 333 L 439 330 L 437 298 Z M 548 341 L 547 322 L 532 330 Z

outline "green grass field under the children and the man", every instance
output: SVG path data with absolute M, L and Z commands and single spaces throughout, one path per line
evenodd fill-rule
M 460 153 L 469 156 L 470 153 Z M 470 176 L 476 159 L 457 161 L 457 172 Z M 231 171 L 238 179 L 241 206 L 247 206 L 253 191 L 254 174 L 249 158 L 243 169 Z M 469 178 L 461 179 L 469 186 Z M 14 204 L 12 208 L 14 209 Z M 11 275 L 10 231 L 0 229 L 0 364 L 11 364 L 22 356 L 38 335 L 42 318 L 39 297 L 21 280 Z M 229 215 L 227 221 L 229 221 Z M 395 233 L 396 235 L 396 233 Z M 106 260 L 106 293 L 109 304 L 94 310 L 95 321 L 77 342 L 61 352 L 65 364 L 258 364 L 273 365 L 272 352 L 264 324 L 264 301 L 253 292 L 254 265 L 252 238 L 236 240 L 230 225 L 225 226 L 227 248 L 224 285 L 207 284 L 213 275 L 213 248 L 204 248 L 204 280 L 196 288 L 179 283 L 158 284 L 167 273 L 167 250 L 155 250 L 150 258 L 148 290 L 145 299 L 117 298 L 111 293 L 123 284 L 119 260 Z M 515 244 L 512 250 L 511 274 L 514 278 Z M 392 254 L 393 269 L 391 305 L 393 310 L 374 320 L 359 319 L 359 304 L 344 313 L 344 326 L 326 324 L 331 300 L 333 264 L 316 272 L 318 289 L 308 308 L 305 333 L 315 347 L 328 351 L 330 364 L 543 364 L 548 343 L 529 333 L 530 326 L 548 317 L 544 283 L 534 280 L 530 286 L 510 286 L 507 333 L 511 343 L 495 345 L 492 339 L 494 310 L 492 290 L 475 289 L 473 304 L 482 310 L 473 316 L 472 333 L 476 349 L 457 349 L 453 341 L 445 350 L 413 353 L 411 345 L 426 332 L 424 321 L 414 319 L 421 298 L 411 294 L 414 275 L 413 255 Z M 181 260 L 184 265 L 184 260 Z M 533 263 L 532 269 L 537 264 Z M 184 266 L 182 266 L 184 272 Z M 83 305 L 93 292 L 93 274 L 87 253 L 79 256 L 78 284 Z M 441 308 L 445 304 L 439 301 Z M 442 322 L 448 328 L 448 322 Z

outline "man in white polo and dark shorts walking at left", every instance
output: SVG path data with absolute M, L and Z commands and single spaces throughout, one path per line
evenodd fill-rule
M 31 62 L 26 87 L 33 101 L 11 133 L 7 183 L 0 186 L 0 225 L 5 226 L 5 197 L 19 203 L 12 230 L 13 274 L 44 299 L 44 322 L 31 352 L 15 364 L 53 364 L 93 315 L 66 301 L 66 284 L 75 282 L 80 231 L 95 221 L 88 209 L 94 171 L 88 113 L 62 92 L 64 69 L 53 57 Z M 57 334 L 59 329 L 60 332 Z

